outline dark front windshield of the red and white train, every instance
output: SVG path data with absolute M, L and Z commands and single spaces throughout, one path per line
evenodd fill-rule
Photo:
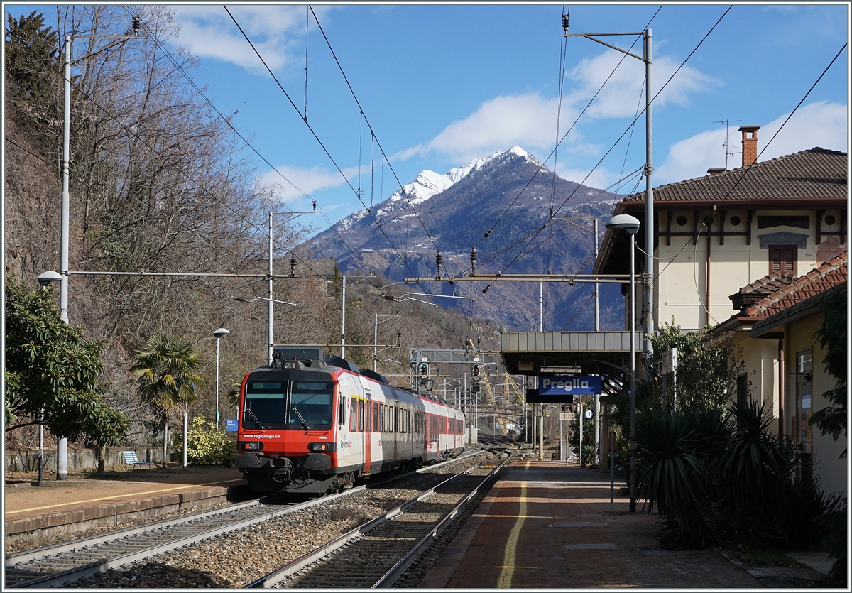
M 332 383 L 250 381 L 245 388 L 243 428 L 327 430 L 331 428 Z

